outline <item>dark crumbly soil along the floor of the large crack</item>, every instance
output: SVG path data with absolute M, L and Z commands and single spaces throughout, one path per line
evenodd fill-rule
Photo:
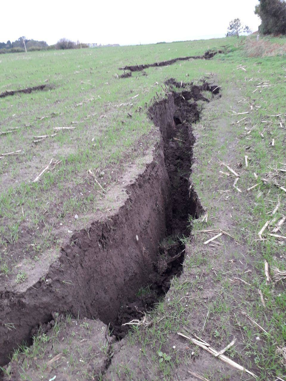
M 175 83 L 174 80 L 171 82 Z M 206 83 L 203 86 L 189 87 L 190 90 L 184 91 L 185 99 L 180 93 L 172 93 L 172 101 L 175 104 L 174 123 L 172 120 L 166 120 L 165 115 L 168 115 L 168 112 L 165 100 L 155 103 L 149 109 L 149 117 L 160 128 L 163 138 L 164 163 L 171 185 L 169 205 L 167 205 L 169 210 L 166 210 L 166 236 L 172 237 L 174 243 L 168 250 L 163 250 L 159 245 L 157 263 L 154 264 L 154 271 L 148 279 L 148 285 L 151 285 L 150 292 L 130 298 L 125 305 L 122 305 L 116 323 L 112 324 L 113 333 L 119 338 L 122 338 L 129 329 L 128 325 L 122 326 L 122 324 L 142 318 L 146 309 L 157 303 L 158 299 L 169 290 L 171 278 L 180 276 L 185 256 L 185 245 L 180 242 L 180 238 L 190 234 L 189 216 L 196 218 L 202 211 L 189 182 L 194 143 L 191 123 L 199 119 L 199 111 L 196 102 L 188 102 L 187 99 L 209 101 L 202 96 L 201 90 L 208 88 L 210 91 L 210 86 Z M 172 128 L 166 128 L 166 125 L 171 125 Z M 164 247 L 164 243 L 162 246 Z

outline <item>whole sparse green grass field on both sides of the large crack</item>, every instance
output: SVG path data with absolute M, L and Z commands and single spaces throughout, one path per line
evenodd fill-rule
M 52 262 L 64 237 L 103 210 L 103 192 L 120 181 L 125 166 L 154 144 L 146 111 L 153 97 L 164 98 L 165 80 L 198 83 L 209 77 L 222 88 L 222 97 L 204 105 L 193 126 L 198 138 L 192 182 L 207 222 L 190 221 L 193 239 L 186 239 L 190 249 L 182 276 L 148 314 L 152 324 L 130 330 L 106 379 L 183 379 L 192 369 L 209 381 L 285 380 L 286 223 L 272 230 L 286 215 L 286 62 L 275 54 L 247 57 L 246 41 L 222 38 L 0 57 L 0 92 L 54 86 L 0 98 L 0 131 L 12 131 L 0 135 L 0 154 L 21 150 L 0 158 L 0 282 L 6 287 L 26 282 L 42 258 Z M 286 38 L 267 41 L 282 45 Z M 208 49 L 224 53 L 118 78 L 118 68 L 128 64 L 200 55 Z M 54 133 L 33 143 L 37 136 Z M 32 182 L 51 159 L 52 170 Z M 236 176 L 222 162 L 238 172 L 235 186 Z M 90 184 L 89 169 L 104 191 Z M 232 238 L 223 234 L 204 245 L 218 229 Z M 143 291 L 148 292 L 138 292 Z M 235 336 L 235 346 L 225 355 L 257 377 L 223 367 L 188 341 L 182 344 L 178 332 L 196 333 L 218 350 Z M 132 347 L 140 348 L 136 363 L 130 360 Z

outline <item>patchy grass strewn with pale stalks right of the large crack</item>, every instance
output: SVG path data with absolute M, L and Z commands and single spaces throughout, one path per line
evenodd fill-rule
M 277 186 L 286 184 L 286 67 L 281 57 L 257 61 L 246 58 L 243 49 L 241 44 L 207 62 L 207 70 L 193 62 L 193 77 L 215 73 L 215 82 L 222 86 L 222 98 L 205 106 L 202 120 L 194 126 L 198 139 L 192 183 L 208 219 L 190 220 L 193 239 L 185 240 L 190 248 L 183 274 L 173 279 L 165 300 L 151 313 L 151 327 L 134 327 L 126 339 L 152 358 L 149 379 L 182 379 L 188 370 L 214 380 L 253 379 L 179 339 L 179 331 L 198 335 L 218 351 L 235 336 L 236 344 L 225 353 L 230 359 L 255 373 L 257 380 L 285 378 L 286 294 L 283 276 L 274 280 L 276 269 L 284 274 L 286 245 L 285 239 L 270 233 L 286 207 L 286 194 Z M 221 162 L 238 172 L 236 187 L 241 193 L 233 187 L 236 177 Z M 268 220 L 270 226 L 260 239 L 258 232 Z M 233 238 L 223 234 L 204 245 L 218 233 L 204 232 L 211 229 L 222 229 Z M 279 234 L 286 235 L 286 224 Z M 265 261 L 271 282 L 266 282 Z M 170 354 L 167 370 L 161 368 L 158 351 Z M 124 354 L 112 363 L 123 366 Z M 143 378 L 140 367 L 136 369 Z

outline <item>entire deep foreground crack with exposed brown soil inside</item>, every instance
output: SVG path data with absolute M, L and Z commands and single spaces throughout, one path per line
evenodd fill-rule
M 124 205 L 74 233 L 31 287 L 0 290 L 0 365 L 18 344 L 32 344 L 35 327 L 49 322 L 53 312 L 100 319 L 122 337 L 122 323 L 140 318 L 169 289 L 171 277 L 180 275 L 184 246 L 179 238 L 188 231 L 189 215 L 202 211 L 189 178 L 191 123 L 199 119 L 196 101 L 204 99 L 194 85 L 184 84 L 185 96 L 175 91 L 174 80 L 170 85 L 167 97 L 149 109 L 161 139 L 124 189 Z M 214 94 L 208 83 L 201 86 Z M 148 293 L 139 295 L 143 288 Z

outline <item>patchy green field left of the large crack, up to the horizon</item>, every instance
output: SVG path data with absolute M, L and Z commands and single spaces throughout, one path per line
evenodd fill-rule
M 1 92 L 43 83 L 54 86 L 0 99 L 0 131 L 11 131 L 0 135 L 0 154 L 20 151 L 0 159 L 0 246 L 10 269 L 1 272 L 2 282 L 7 285 L 15 280 L 17 266 L 29 273 L 35 258 L 38 263 L 57 258 L 63 237 L 106 208 L 101 205 L 106 199 L 102 189 L 87 171 L 92 169 L 108 191 L 127 163 L 143 157 L 145 148 L 154 144 L 146 104 L 157 94 L 164 96 L 161 86 L 174 72 L 184 79 L 186 74 L 192 75 L 193 62 L 152 68 L 147 75 L 133 73 L 124 79 L 118 78 L 122 74 L 118 68 L 201 54 L 233 41 L 2 57 Z M 39 138 L 45 135 L 48 137 Z M 40 181 L 32 182 L 51 160 Z M 33 237 L 32 242 L 27 237 Z

